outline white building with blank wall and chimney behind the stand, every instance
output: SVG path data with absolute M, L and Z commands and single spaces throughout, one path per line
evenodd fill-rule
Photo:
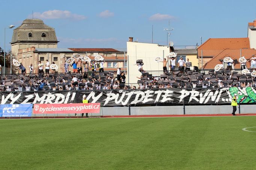
M 126 82 L 137 83 L 139 79 L 136 77 L 140 77 L 142 75 L 138 71 L 138 66 L 136 65 L 137 60 L 143 60 L 143 69 L 146 71 L 163 70 L 163 63 L 155 62 L 155 58 L 166 58 L 166 56 L 172 51 L 173 47 L 171 46 L 133 42 L 133 37 L 129 37 L 129 41 L 127 42 L 128 80 Z

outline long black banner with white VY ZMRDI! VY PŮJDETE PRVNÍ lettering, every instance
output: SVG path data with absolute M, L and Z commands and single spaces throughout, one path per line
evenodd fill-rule
M 86 97 L 90 103 L 101 106 L 124 106 L 153 103 L 214 104 L 229 103 L 236 96 L 240 103 L 255 103 L 255 87 L 230 87 L 218 89 L 145 89 L 145 90 L 95 90 L 0 92 L 1 104 L 29 103 L 81 103 Z

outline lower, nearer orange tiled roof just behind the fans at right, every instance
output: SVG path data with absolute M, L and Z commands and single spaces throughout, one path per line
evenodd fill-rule
M 241 56 L 244 56 L 245 59 L 252 58 L 252 55 L 256 53 L 255 49 L 242 49 L 241 50 Z M 234 68 L 239 69 L 241 67 L 240 63 L 238 62 L 238 59 L 240 58 L 240 49 L 225 49 L 222 52 L 220 52 L 217 56 L 212 58 L 210 61 L 208 61 L 203 68 L 204 69 L 214 69 L 215 65 L 217 64 L 223 64 L 221 60 L 223 60 L 225 57 L 229 56 L 234 61 Z M 250 67 L 250 62 L 246 62 L 247 68 Z

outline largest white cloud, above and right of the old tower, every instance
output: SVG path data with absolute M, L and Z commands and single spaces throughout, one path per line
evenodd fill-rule
M 32 18 L 32 15 L 29 16 Z M 68 10 L 48 10 L 43 13 L 35 12 L 33 13 L 33 18 L 40 18 L 40 19 L 75 19 L 75 20 L 83 20 L 86 19 L 84 15 L 78 15 L 75 13 L 71 13 Z

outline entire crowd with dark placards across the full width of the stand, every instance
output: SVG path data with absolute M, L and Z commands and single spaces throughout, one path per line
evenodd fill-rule
M 208 74 L 186 70 L 165 72 L 159 77 L 142 72 L 137 84 L 126 84 L 125 74 L 117 72 L 87 72 L 59 74 L 18 74 L 1 76 L 1 91 L 38 90 L 110 90 L 110 89 L 152 89 L 152 88 L 217 88 L 256 87 L 256 78 L 251 74 L 238 72 L 208 71 Z

